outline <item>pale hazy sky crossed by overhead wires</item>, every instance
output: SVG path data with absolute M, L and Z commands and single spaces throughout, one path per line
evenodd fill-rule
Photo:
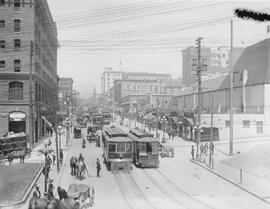
M 58 28 L 58 74 L 72 77 L 88 98 L 101 89 L 101 74 L 114 70 L 169 73 L 182 77 L 181 50 L 247 47 L 267 38 L 267 23 L 240 20 L 235 8 L 270 13 L 270 1 L 47 0 Z

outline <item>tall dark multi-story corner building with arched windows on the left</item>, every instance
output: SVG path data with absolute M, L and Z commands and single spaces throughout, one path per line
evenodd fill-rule
M 1 134 L 26 132 L 30 145 L 45 136 L 57 108 L 57 48 L 46 0 L 0 1 Z

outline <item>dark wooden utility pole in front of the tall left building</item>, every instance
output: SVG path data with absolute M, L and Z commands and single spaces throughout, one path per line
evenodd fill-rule
M 33 87 L 32 87 L 32 67 L 33 67 L 34 43 L 30 42 L 30 72 L 29 72 L 29 142 L 30 149 L 34 144 L 34 117 L 33 117 Z

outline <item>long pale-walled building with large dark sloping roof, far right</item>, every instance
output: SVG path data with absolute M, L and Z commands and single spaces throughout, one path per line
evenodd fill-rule
M 235 138 L 270 135 L 269 54 L 270 39 L 266 39 L 247 47 L 233 67 L 233 135 Z M 229 75 L 222 75 L 202 82 L 202 126 L 209 127 L 211 124 L 212 98 L 214 126 L 219 129 L 220 139 L 229 139 Z M 194 113 L 196 116 L 198 105 L 196 84 L 183 89 L 178 96 L 173 97 L 172 105 L 175 111 L 181 111 L 182 114 Z M 188 131 L 188 133 L 191 132 Z

